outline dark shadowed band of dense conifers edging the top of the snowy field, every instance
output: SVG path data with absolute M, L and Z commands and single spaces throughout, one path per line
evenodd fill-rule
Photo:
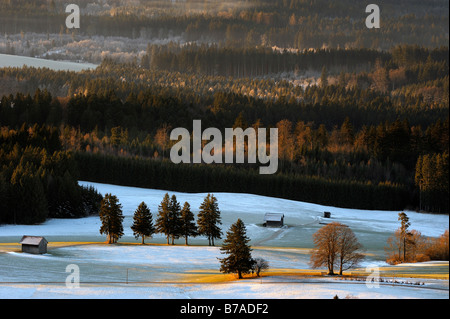
M 401 209 L 414 203 L 408 187 L 381 182 L 331 180 L 314 176 L 259 175 L 256 170 L 218 165 L 177 165 L 168 161 L 78 152 L 82 180 L 182 192 L 242 192 L 323 205 Z M 383 199 L 383 200 L 380 200 Z

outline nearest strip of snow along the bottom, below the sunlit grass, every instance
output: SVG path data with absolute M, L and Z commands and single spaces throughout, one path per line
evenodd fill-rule
M 277 280 L 279 278 L 273 278 Z M 284 279 L 284 278 L 283 278 Z M 0 297 L 11 299 L 448 299 L 447 291 L 326 279 L 301 282 L 242 280 L 216 284 L 85 284 L 80 288 L 61 285 L 0 285 Z

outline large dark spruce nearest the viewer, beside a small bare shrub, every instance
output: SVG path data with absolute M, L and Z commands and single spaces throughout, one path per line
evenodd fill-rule
M 220 248 L 222 254 L 228 254 L 228 257 L 219 258 L 221 272 L 237 273 L 239 279 L 242 279 L 242 274 L 252 271 L 254 260 L 251 255 L 252 249 L 248 245 L 249 241 L 245 225 L 238 219 L 227 231 L 227 237 Z

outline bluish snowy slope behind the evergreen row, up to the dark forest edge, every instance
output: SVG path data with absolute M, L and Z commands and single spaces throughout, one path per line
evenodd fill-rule
M 158 205 L 167 192 L 84 181 L 79 183 L 84 186 L 94 186 L 102 195 L 111 193 L 118 197 L 125 215 L 125 236 L 121 239 L 122 241 L 138 242 L 134 239 L 130 228 L 137 206 L 144 201 L 155 220 Z M 205 193 L 188 194 L 171 191 L 168 193 L 175 194 L 181 205 L 185 201 L 189 202 L 194 214 L 198 213 L 199 206 L 207 195 Z M 214 195 L 218 199 L 221 211 L 223 232 L 225 233 L 232 223 L 241 218 L 247 227 L 253 246 L 311 248 L 312 234 L 323 226 L 323 223 L 337 221 L 348 225 L 366 250 L 384 254 L 387 238 L 400 226 L 399 211 L 344 209 L 251 194 L 214 193 Z M 323 218 L 324 211 L 331 212 L 331 218 Z M 286 227 L 281 229 L 262 227 L 265 213 L 283 213 Z M 410 211 L 406 211 L 406 213 L 411 223 L 410 229 L 418 230 L 424 236 L 437 237 L 449 228 L 448 215 L 421 214 Z M 61 236 L 69 236 L 71 240 L 77 241 L 106 240 L 99 234 L 99 229 L 98 217 L 50 219 L 42 225 L 0 226 L 0 238 L 28 234 L 47 236 L 54 241 L 65 241 L 60 238 Z M 149 242 L 164 243 L 165 239 L 162 235 L 155 235 L 154 239 Z M 178 243 L 183 243 L 183 240 Z M 204 238 L 193 239 L 192 243 L 206 244 Z

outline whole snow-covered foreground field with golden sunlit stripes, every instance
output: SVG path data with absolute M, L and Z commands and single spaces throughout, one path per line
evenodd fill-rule
M 190 240 L 191 246 L 184 246 L 183 239 L 176 241 L 175 246 L 166 246 L 155 245 L 166 242 L 162 235 L 155 235 L 146 240 L 153 245 L 142 246 L 130 229 L 133 213 L 142 201 L 156 219 L 158 205 L 166 191 L 90 182 L 80 184 L 93 185 L 103 195 L 112 193 L 119 198 L 125 215 L 125 235 L 119 240 L 120 244 L 103 244 L 106 237 L 99 234 L 98 217 L 53 219 L 42 225 L 0 226 L 0 298 L 332 298 L 336 294 L 340 298 L 449 297 L 448 280 L 436 279 L 419 279 L 424 283 L 420 287 L 380 284 L 378 288 L 369 288 L 364 282 L 298 276 L 197 283 L 195 280 L 202 276 L 215 276 L 215 280 L 224 276 L 218 271 L 221 241 L 216 242 L 216 247 L 208 247 L 205 246 L 207 239 L 198 237 Z M 181 205 L 188 201 L 194 213 L 206 196 L 168 193 L 175 194 Z M 341 209 L 251 194 L 214 195 L 221 210 L 223 232 L 241 218 L 251 238 L 253 256 L 266 259 L 271 271 L 309 269 L 311 236 L 323 226 L 321 223 L 328 221 L 347 224 L 355 232 L 367 254 L 361 265 L 363 268 L 369 264 L 387 266 L 384 262 L 386 239 L 399 226 L 396 211 Z M 331 219 L 322 218 L 324 211 L 331 212 Z M 262 227 L 266 212 L 284 213 L 287 227 Z M 448 229 L 448 215 L 406 213 L 411 229 L 423 235 L 439 236 Z M 14 245 L 25 234 L 45 236 L 50 242 L 49 252 L 36 256 L 9 249 L 1 253 L 1 243 Z M 93 243 L 57 244 L 68 241 Z M 80 288 L 70 289 L 64 284 L 69 264 L 80 269 Z M 431 269 L 431 272 L 439 269 L 448 274 L 448 263 L 436 266 L 422 264 L 412 268 L 422 267 L 421 270 Z M 389 269 L 395 276 L 396 268 Z M 403 271 L 404 267 L 398 269 Z

